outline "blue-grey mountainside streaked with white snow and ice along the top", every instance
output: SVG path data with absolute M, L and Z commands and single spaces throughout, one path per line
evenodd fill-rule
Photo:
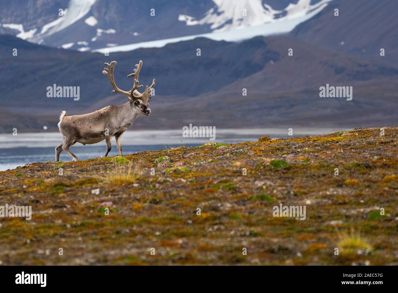
M 0 0 L 0 33 L 79 51 L 287 33 L 332 0 Z

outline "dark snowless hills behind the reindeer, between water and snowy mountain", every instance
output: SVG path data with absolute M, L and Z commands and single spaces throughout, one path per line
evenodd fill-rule
M 0 61 L 8 64 L 0 72 L 4 110 L 14 117 L 52 116 L 49 130 L 57 130 L 61 110 L 82 114 L 127 101 L 111 93 L 109 80 L 101 74 L 103 63 L 111 60 L 118 62 L 115 79 L 120 88 L 132 87 L 126 76 L 138 60 L 144 61 L 140 82 L 145 85 L 156 78 L 152 114 L 135 122 L 147 129 L 189 123 L 242 128 L 398 122 L 396 64 L 382 57 L 364 60 L 291 37 L 255 37 L 240 43 L 197 38 L 110 56 L 35 45 L 12 36 L 0 39 Z M 201 56 L 196 55 L 197 47 Z M 18 48 L 18 56 L 12 56 L 13 48 Z M 288 55 L 289 48 L 293 56 Z M 47 97 L 47 87 L 53 84 L 80 87 L 79 100 Z M 320 98 L 319 88 L 326 84 L 352 86 L 353 100 Z M 242 95 L 243 88 L 247 96 Z M 2 125 L 10 128 L 5 119 Z M 22 127 L 15 120 L 15 127 Z M 32 130 L 42 129 L 41 124 L 32 123 Z

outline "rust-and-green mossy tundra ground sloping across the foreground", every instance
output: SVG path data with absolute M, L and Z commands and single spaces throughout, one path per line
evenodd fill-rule
M 0 263 L 398 264 L 398 128 L 343 134 L 142 151 L 123 156 L 139 174 L 120 186 L 98 180 L 120 158 L 0 172 L 0 205 L 33 211 L 0 218 Z M 280 203 L 306 220 L 273 217 Z M 351 227 L 360 240 L 335 255 Z

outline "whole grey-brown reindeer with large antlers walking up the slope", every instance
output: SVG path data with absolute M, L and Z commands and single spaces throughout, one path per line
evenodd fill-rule
M 127 77 L 134 76 L 134 86 L 131 90 L 124 91 L 118 88 L 115 84 L 113 71 L 116 61 L 111 64 L 104 63 L 107 68 L 102 71 L 103 74 L 109 77 L 111 85 L 114 88 L 112 92 L 119 92 L 125 94 L 129 98 L 129 102 L 122 106 L 107 106 L 101 110 L 83 115 L 66 116 L 66 112 L 62 111 L 59 117 L 58 128 L 64 136 L 62 144 L 55 148 L 55 161 L 59 161 L 59 154 L 62 150 L 66 151 L 71 157 L 72 161 L 77 161 L 78 157 L 74 155 L 69 147 L 80 142 L 81 144 L 96 144 L 102 140 L 106 141 L 106 152 L 101 157 L 106 157 L 111 150 L 111 138 L 115 136 L 117 149 L 119 155 L 122 155 L 121 136 L 125 130 L 133 124 L 138 115 L 148 116 L 150 113 L 149 100 L 151 98 L 151 89 L 155 85 L 153 79 L 150 87 L 146 86 L 144 92 L 141 94 L 137 89 L 142 88 L 138 85 L 138 75 L 142 66 L 142 61 L 135 66 L 134 73 L 127 75 Z

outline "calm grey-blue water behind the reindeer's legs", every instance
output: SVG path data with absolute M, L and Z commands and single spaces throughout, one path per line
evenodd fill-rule
M 294 136 L 326 134 L 335 129 L 297 129 Z M 258 140 L 260 136 L 288 137 L 283 129 L 216 129 L 214 142 L 245 142 Z M 59 132 L 0 134 L 0 171 L 23 166 L 26 163 L 55 160 L 55 147 L 62 142 Z M 123 153 L 136 153 L 143 150 L 158 150 L 170 147 L 199 146 L 210 142 L 209 138 L 183 138 L 182 130 L 127 131 L 123 134 Z M 106 144 L 86 145 L 76 143 L 70 147 L 79 159 L 100 157 L 105 153 Z M 108 156 L 118 155 L 115 139 L 112 138 L 112 150 Z M 71 157 L 62 151 L 60 160 L 70 161 Z

